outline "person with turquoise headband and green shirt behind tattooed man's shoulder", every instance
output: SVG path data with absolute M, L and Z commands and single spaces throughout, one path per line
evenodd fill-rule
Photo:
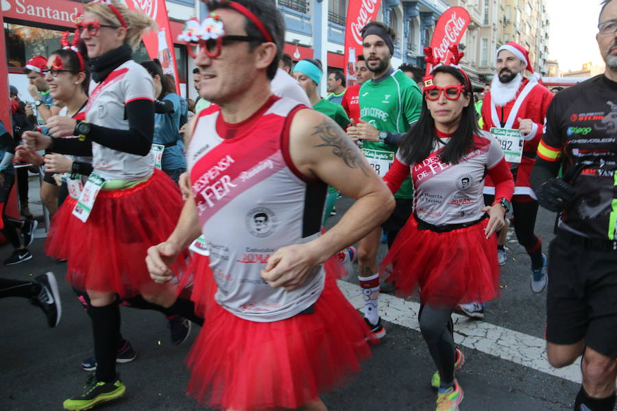
M 349 117 L 343 106 L 319 97 L 319 83 L 322 81 L 323 75 L 321 64 L 313 59 L 300 60 L 293 68 L 293 78 L 298 80 L 300 86 L 306 91 L 313 109 L 326 114 L 344 130 L 349 125 Z M 335 207 L 338 195 L 339 192 L 336 188 L 328 186 L 328 196 L 326 197 L 326 207 L 324 209 L 324 224 Z

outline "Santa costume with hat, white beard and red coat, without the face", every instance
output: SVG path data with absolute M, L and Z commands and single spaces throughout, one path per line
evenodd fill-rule
M 508 42 L 497 50 L 511 51 L 522 62 L 527 63 L 527 70 L 533 73 L 529 62 L 529 51 L 516 42 Z M 493 78 L 491 90 L 487 92 L 482 103 L 483 129 L 490 132 L 492 127 L 518 129 L 518 119 L 531 119 L 531 133 L 522 135 L 524 138 L 523 154 L 520 164 L 513 170 L 515 173 L 514 195 L 528 195 L 535 199 L 529 177 L 537 145 L 542 138 L 546 110 L 553 99 L 553 93 L 537 82 L 539 75 L 522 77 L 521 73 L 508 83 L 501 83 L 498 75 Z M 495 188 L 489 177 L 486 179 L 484 193 L 495 194 Z

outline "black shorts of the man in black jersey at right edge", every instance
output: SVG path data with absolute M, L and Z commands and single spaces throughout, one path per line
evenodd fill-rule
M 617 359 L 617 251 L 594 251 L 559 230 L 548 251 L 546 340 Z

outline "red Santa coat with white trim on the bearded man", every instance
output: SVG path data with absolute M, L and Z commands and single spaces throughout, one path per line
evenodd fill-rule
M 492 114 L 491 109 L 491 106 L 493 105 L 491 92 L 487 92 L 482 103 L 482 119 L 484 121 L 483 129 L 488 132 L 491 127 L 518 129 L 519 117 L 521 119 L 531 119 L 531 121 L 533 121 L 533 129 L 531 134 L 524 136 L 525 142 L 523 146 L 523 155 L 520 164 L 518 164 L 518 170 L 516 171 L 514 195 L 529 195 L 535 198 L 535 194 L 533 194 L 533 190 L 531 190 L 529 177 L 535 162 L 537 145 L 540 143 L 540 139 L 542 138 L 546 110 L 548 110 L 548 105 L 553 99 L 553 93 L 550 92 L 548 88 L 542 86 L 542 84 L 536 82 L 535 86 L 530 86 L 531 90 L 527 92 L 527 95 L 522 96 L 521 94 L 524 92 L 524 89 L 528 83 L 529 79 L 523 79 L 520 88 L 516 93 L 516 97 L 511 101 L 508 101 L 503 107 L 496 107 L 496 119 L 494 119 L 494 114 Z M 518 112 L 513 113 L 512 117 L 510 117 L 512 109 L 515 105 L 517 105 L 517 100 L 519 97 L 524 97 L 524 99 L 522 99 L 520 103 Z M 510 120 L 511 125 L 508 124 L 508 119 L 513 119 L 513 122 Z M 491 195 L 495 193 L 495 188 L 488 176 L 486 178 L 484 192 L 485 194 Z

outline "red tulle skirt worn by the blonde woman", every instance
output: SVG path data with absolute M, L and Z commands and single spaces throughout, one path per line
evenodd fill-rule
M 152 281 L 145 264 L 148 247 L 167 240 L 183 206 L 180 189 L 165 173 L 155 169 L 133 188 L 99 192 L 86 223 L 73 216 L 76 202 L 64 200 L 45 242 L 45 253 L 68 260 L 71 286 L 121 298 L 173 287 Z

